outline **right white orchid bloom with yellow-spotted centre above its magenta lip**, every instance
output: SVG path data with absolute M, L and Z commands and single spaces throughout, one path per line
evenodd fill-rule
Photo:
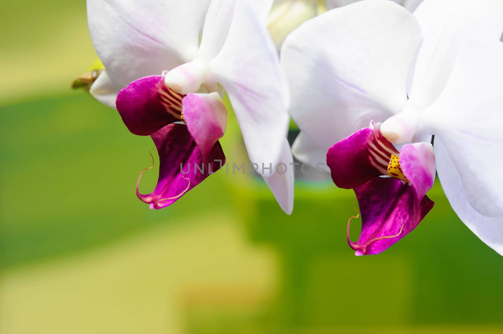
M 292 149 L 312 163 L 326 153 L 334 183 L 355 190 L 356 255 L 417 226 L 433 207 L 435 171 L 459 218 L 503 255 L 502 31 L 500 0 L 425 0 L 414 14 L 364 0 L 285 41 L 301 129 Z

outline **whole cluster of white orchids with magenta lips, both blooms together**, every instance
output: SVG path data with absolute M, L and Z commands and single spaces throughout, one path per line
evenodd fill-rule
M 459 218 L 503 255 L 503 1 L 87 5 L 105 66 L 90 93 L 157 148 L 154 191 L 138 190 L 147 169 L 136 185 L 150 208 L 170 206 L 221 168 L 227 94 L 251 162 L 289 166 L 293 151 L 326 162 L 334 184 L 354 190 L 357 241 L 351 218 L 347 228 L 356 255 L 411 232 L 434 207 L 427 193 L 437 174 Z M 301 130 L 291 149 L 289 115 Z M 182 173 L 193 163 L 206 168 Z M 262 177 L 290 214 L 293 172 Z

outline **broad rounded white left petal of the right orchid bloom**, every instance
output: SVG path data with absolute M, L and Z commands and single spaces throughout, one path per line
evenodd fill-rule
M 415 18 L 390 1 L 363 1 L 304 23 L 285 41 L 290 114 L 320 148 L 398 113 L 421 44 Z

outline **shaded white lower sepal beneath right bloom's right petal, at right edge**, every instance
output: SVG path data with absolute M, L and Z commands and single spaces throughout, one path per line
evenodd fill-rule
M 437 172 L 445 195 L 459 219 L 482 241 L 503 255 L 503 217 L 486 217 L 472 208 L 464 196 L 461 177 L 440 138 L 435 140 Z

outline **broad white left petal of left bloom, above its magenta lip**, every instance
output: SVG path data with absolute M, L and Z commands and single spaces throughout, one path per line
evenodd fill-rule
M 190 59 L 209 0 L 88 0 L 89 31 L 109 75 L 124 87 Z

